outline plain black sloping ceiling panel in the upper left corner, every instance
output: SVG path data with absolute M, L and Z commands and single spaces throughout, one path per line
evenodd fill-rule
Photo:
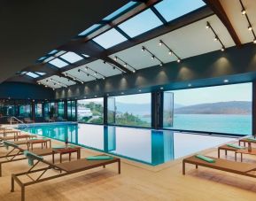
M 127 0 L 2 1 L 0 82 L 127 3 Z

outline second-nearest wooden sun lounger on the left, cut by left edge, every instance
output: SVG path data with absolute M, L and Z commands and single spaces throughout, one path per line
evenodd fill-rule
M 0 177 L 2 176 L 2 165 L 3 164 L 26 159 L 26 157 L 23 156 L 23 152 L 27 151 L 26 149 L 23 149 L 23 148 L 19 147 L 18 144 L 11 143 L 11 142 L 4 142 L 4 145 L 7 146 L 8 148 L 10 147 L 11 151 L 9 151 L 4 156 L 0 156 Z M 36 149 L 31 152 L 33 152 L 39 156 L 53 155 L 53 149 L 51 149 L 51 148 Z M 52 161 L 53 161 L 53 157 L 52 157 Z

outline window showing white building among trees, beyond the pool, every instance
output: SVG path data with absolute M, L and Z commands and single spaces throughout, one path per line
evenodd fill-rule
M 77 119 L 85 123 L 103 124 L 103 98 L 77 101 Z

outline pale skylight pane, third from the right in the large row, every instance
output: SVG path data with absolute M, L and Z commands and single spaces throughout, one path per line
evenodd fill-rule
M 93 39 L 94 42 L 98 43 L 105 49 L 111 48 L 112 46 L 127 41 L 127 38 L 121 35 L 116 29 L 112 28 L 102 35 L 98 35 Z

